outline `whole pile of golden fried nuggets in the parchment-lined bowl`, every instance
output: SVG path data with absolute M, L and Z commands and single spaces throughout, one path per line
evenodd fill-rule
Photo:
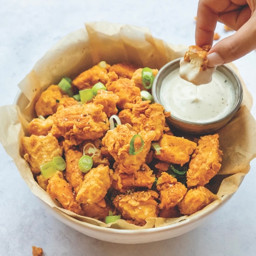
M 219 135 L 193 140 L 175 136 L 166 123 L 170 113 L 142 100 L 141 90 L 146 89 L 141 73 L 142 68 L 127 63 L 99 63 L 72 82 L 73 91 L 102 82 L 107 90 L 99 90 L 92 101 L 81 104 L 57 85 L 36 101 L 36 114 L 45 119 L 29 123 L 22 154 L 38 184 L 63 208 L 101 221 L 111 211 L 143 226 L 149 217 L 191 215 L 217 199 L 205 185 L 221 167 Z M 109 126 L 112 115 L 121 120 L 114 129 Z M 129 148 L 136 134 L 144 145 L 133 155 Z M 152 142 L 159 143 L 160 154 Z M 93 168 L 84 174 L 78 160 L 88 143 L 100 154 L 93 156 Z M 135 140 L 135 149 L 140 146 L 141 140 Z M 66 169 L 46 179 L 41 166 L 55 156 L 63 156 Z M 187 166 L 185 182 L 168 172 L 170 165 Z

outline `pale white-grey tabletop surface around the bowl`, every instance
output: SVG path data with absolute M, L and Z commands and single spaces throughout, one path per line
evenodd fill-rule
M 198 1 L 0 0 L 0 105 L 12 104 L 17 84 L 52 45 L 84 22 L 108 21 L 148 27 L 154 37 L 194 44 Z M 219 24 L 221 37 L 229 35 Z M 235 61 L 256 96 L 256 52 Z M 256 106 L 252 113 L 256 117 Z M 0 255 L 255 255 L 256 161 L 239 191 L 204 225 L 180 237 L 142 245 L 112 244 L 65 226 L 48 214 L 0 145 Z M 114 242 L 114 241 L 113 241 Z

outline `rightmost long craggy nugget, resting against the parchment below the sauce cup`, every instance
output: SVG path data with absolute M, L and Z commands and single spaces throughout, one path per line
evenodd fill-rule
M 187 171 L 187 185 L 204 186 L 220 170 L 222 151 L 219 149 L 219 134 L 200 137 Z

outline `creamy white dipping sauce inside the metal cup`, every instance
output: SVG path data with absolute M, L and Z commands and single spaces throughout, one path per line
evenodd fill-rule
M 212 81 L 195 86 L 179 76 L 179 69 L 162 82 L 160 100 L 171 115 L 189 122 L 212 122 L 233 108 L 234 89 L 231 81 L 216 70 Z

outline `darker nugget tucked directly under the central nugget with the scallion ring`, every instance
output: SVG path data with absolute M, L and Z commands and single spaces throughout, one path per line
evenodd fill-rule
M 112 186 L 120 191 L 125 192 L 127 189 L 134 188 L 152 188 L 155 182 L 155 175 L 145 163 L 142 164 L 140 170 L 136 170 L 133 174 L 119 173 L 119 167 L 115 167 Z

